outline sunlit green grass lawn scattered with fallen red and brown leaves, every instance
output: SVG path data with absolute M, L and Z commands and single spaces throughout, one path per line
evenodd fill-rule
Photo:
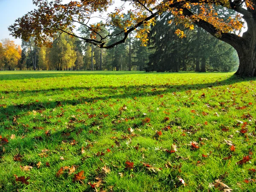
M 0 72 L 0 191 L 253 192 L 255 118 L 233 73 Z

